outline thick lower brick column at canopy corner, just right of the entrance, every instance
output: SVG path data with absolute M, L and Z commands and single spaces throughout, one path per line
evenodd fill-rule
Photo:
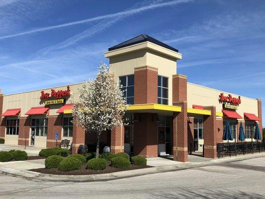
M 173 159 L 188 161 L 187 102 L 175 102 L 181 106 L 181 112 L 173 113 Z

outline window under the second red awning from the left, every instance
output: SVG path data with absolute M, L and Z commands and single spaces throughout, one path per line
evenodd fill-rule
M 47 126 L 48 126 L 47 118 L 31 119 L 31 133 L 34 131 L 36 136 L 47 136 L 47 128 L 48 128 Z

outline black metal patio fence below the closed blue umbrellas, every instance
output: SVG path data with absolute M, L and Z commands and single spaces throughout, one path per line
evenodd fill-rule
M 218 158 L 265 152 L 264 142 L 217 143 Z

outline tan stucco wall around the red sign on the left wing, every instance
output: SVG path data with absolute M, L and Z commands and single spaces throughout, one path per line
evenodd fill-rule
M 81 86 L 81 84 L 74 84 L 69 85 L 72 97 L 66 98 L 66 103 L 70 103 L 71 99 L 73 98 L 75 101 L 79 98 L 79 93 L 77 91 L 77 88 Z M 58 90 L 67 90 L 67 86 L 62 87 L 55 87 L 51 88 L 56 91 Z M 32 92 L 25 92 L 20 94 L 13 94 L 13 95 L 6 95 L 3 97 L 3 112 L 7 109 L 12 108 L 21 108 L 21 117 L 26 117 L 25 113 L 31 108 L 31 107 L 38 107 L 38 106 L 44 106 L 45 100 L 40 100 L 41 91 L 44 91 L 45 93 L 51 93 L 51 89 L 45 89 L 45 90 L 37 90 Z M 64 98 L 64 97 L 63 97 Z M 46 100 L 52 100 L 52 99 L 46 99 Z M 50 113 L 49 115 L 58 115 L 56 111 L 62 106 L 62 104 L 52 104 L 49 105 L 50 107 Z

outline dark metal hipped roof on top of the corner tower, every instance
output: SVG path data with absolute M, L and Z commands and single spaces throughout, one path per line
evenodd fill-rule
M 127 41 L 124 41 L 120 44 L 117 44 L 115 46 L 112 46 L 111 48 L 108 49 L 108 51 L 112 51 L 112 50 L 116 50 L 116 49 L 119 49 L 119 48 L 123 48 L 123 47 L 127 47 L 127 46 L 132 46 L 134 44 L 138 44 L 138 43 L 143 43 L 143 42 L 146 42 L 146 41 L 149 41 L 149 42 L 152 42 L 154 44 L 157 44 L 159 46 L 162 46 L 164 48 L 167 48 L 169 50 L 172 50 L 172 51 L 175 51 L 175 52 L 178 52 L 178 50 L 176 48 L 173 48 L 153 37 L 150 37 L 149 35 L 145 34 L 145 33 L 142 33 L 136 37 L 133 37 Z

